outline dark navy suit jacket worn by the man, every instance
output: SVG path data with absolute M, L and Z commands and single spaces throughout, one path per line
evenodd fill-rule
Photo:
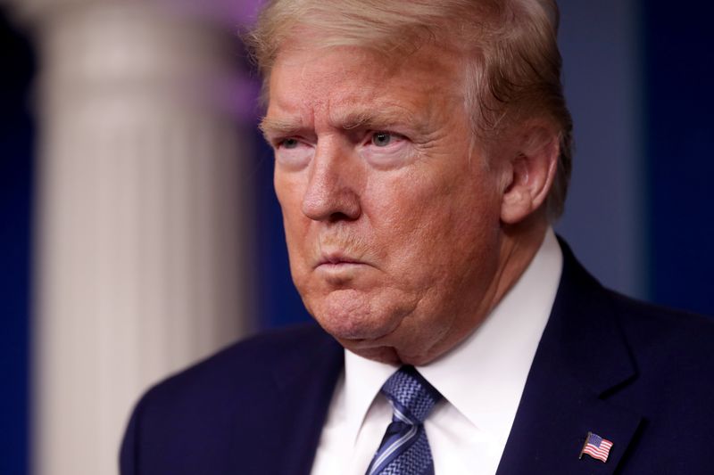
M 712 322 L 608 291 L 563 248 L 498 475 L 714 473 Z M 306 325 L 171 377 L 138 403 L 121 474 L 309 473 L 343 357 Z M 614 443 L 607 463 L 578 459 L 588 431 Z

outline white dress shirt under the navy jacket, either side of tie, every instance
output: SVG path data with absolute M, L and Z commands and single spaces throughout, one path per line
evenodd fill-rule
M 436 474 L 494 475 L 561 272 L 562 253 L 549 229 L 525 273 L 486 321 L 458 347 L 417 368 L 444 396 L 424 422 Z M 364 475 L 392 420 L 379 389 L 396 369 L 345 350 L 345 372 L 312 475 Z

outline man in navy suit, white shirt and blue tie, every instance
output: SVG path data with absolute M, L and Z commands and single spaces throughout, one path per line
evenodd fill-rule
M 152 389 L 123 474 L 710 472 L 710 323 L 602 289 L 552 233 L 556 25 L 546 0 L 267 5 L 262 130 L 321 329 Z

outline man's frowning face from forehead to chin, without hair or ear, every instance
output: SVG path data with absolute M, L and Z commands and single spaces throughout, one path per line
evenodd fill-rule
M 461 61 L 354 47 L 278 56 L 262 128 L 290 268 L 345 348 L 424 364 L 468 336 L 498 286 L 502 179 L 472 143 Z

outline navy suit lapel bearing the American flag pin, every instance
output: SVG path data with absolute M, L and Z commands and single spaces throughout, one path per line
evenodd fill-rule
M 607 291 L 561 242 L 560 288 L 531 366 L 498 475 L 610 474 L 641 417 L 608 395 L 635 379 L 635 366 Z M 584 455 L 592 431 L 614 444 L 606 463 Z

